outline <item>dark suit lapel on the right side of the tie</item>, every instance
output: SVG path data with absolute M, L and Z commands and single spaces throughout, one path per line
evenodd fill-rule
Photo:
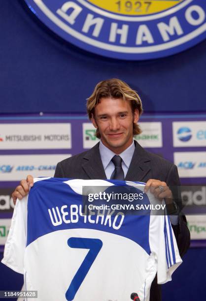
M 143 181 L 150 169 L 150 159 L 146 151 L 135 141 L 135 151 L 125 180 Z

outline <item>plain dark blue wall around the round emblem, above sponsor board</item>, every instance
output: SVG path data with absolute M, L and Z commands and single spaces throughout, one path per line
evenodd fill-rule
M 206 110 L 206 41 L 158 60 L 122 61 L 82 51 L 47 30 L 23 0 L 1 1 L 1 112 L 85 112 L 97 82 L 125 80 L 145 112 Z

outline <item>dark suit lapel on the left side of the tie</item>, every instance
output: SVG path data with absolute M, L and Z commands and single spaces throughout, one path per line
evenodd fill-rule
M 83 157 L 82 168 L 90 179 L 106 179 L 100 156 L 99 143 L 96 144 L 90 151 L 87 151 Z

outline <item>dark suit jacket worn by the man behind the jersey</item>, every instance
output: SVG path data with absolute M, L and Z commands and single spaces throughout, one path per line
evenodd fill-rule
M 146 182 L 149 179 L 164 181 L 170 186 L 180 186 L 177 167 L 164 158 L 145 151 L 135 141 L 135 152 L 127 172 L 126 181 Z M 99 143 L 91 150 L 74 155 L 57 164 L 54 177 L 71 179 L 106 179 L 99 151 Z M 178 225 L 172 225 L 180 256 L 190 245 L 190 233 L 185 216 L 179 216 Z M 150 301 L 161 301 L 161 287 L 157 276 L 150 289 Z

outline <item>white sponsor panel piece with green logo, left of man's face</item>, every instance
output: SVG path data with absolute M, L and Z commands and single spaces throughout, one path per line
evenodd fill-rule
M 82 123 L 83 130 L 83 148 L 91 149 L 95 144 L 97 144 L 100 140 L 96 137 L 96 128 L 91 122 L 83 122 Z

